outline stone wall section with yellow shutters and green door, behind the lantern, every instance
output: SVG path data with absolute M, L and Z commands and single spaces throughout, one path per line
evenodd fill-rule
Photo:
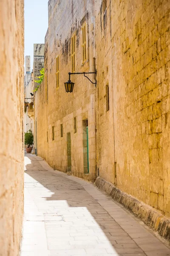
M 71 37 L 76 33 L 76 72 L 94 71 L 95 57 L 95 1 L 48 2 L 48 32 L 45 38 L 46 84 L 41 84 L 35 95 L 35 119 L 37 120 L 37 153 L 55 169 L 68 171 L 67 133 L 71 133 L 71 171 L 88 180 L 96 177 L 95 148 L 95 85 L 83 75 L 71 76 L 74 92 L 66 93 L 64 82 L 71 72 Z M 87 61 L 82 64 L 82 25 L 87 25 Z M 56 58 L 59 55 L 59 88 L 56 89 Z M 48 61 L 47 61 L 48 59 Z M 89 75 L 94 81 L 94 75 Z M 77 132 L 74 133 L 74 117 Z M 88 119 L 89 174 L 84 173 L 83 120 Z M 63 126 L 61 137 L 60 125 Z M 54 127 L 54 140 L 52 140 Z M 48 135 L 47 135 L 48 133 Z M 48 138 L 47 138 L 48 137 Z M 84 149 L 85 152 L 85 149 Z

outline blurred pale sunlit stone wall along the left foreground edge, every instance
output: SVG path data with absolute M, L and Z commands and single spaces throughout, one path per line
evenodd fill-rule
M 23 0 L 0 1 L 0 256 L 19 255 L 23 220 Z

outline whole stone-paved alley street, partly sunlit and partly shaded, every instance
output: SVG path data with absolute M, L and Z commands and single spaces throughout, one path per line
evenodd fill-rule
M 21 256 L 170 256 L 170 249 L 93 184 L 25 157 Z

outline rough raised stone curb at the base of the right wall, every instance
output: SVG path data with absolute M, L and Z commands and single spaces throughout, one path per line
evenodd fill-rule
M 103 180 L 100 177 L 96 178 L 94 184 L 100 190 L 110 195 L 115 201 L 118 201 L 128 210 L 133 212 L 133 214 L 140 218 L 144 224 L 158 232 L 164 239 L 170 241 L 170 219 L 161 215 L 161 213 L 157 212 L 149 205 L 144 204 L 136 198 L 122 192 L 120 189 L 117 189 L 112 183 Z

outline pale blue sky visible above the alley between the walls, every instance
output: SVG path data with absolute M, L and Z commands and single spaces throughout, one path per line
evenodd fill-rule
M 34 44 L 44 44 L 48 29 L 48 0 L 24 0 L 25 56 L 31 56 L 33 68 Z M 25 58 L 26 59 L 26 58 Z

